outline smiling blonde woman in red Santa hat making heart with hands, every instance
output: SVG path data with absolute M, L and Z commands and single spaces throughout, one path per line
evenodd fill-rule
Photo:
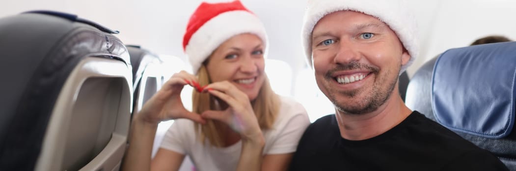
M 197 170 L 286 170 L 310 121 L 271 90 L 266 45 L 263 24 L 239 1 L 202 3 L 183 40 L 195 76 L 174 74 L 135 116 L 124 170 L 178 170 L 186 155 Z M 191 112 L 181 102 L 185 85 L 196 89 Z M 151 161 L 157 124 L 170 119 Z

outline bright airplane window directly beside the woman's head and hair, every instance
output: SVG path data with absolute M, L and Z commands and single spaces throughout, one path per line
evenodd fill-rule
M 265 60 L 265 73 L 270 81 L 272 90 L 281 96 L 291 96 L 292 68 L 280 60 Z

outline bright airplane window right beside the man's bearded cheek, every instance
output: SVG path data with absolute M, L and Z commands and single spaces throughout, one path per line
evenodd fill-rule
M 317 87 L 311 68 L 306 67 L 299 71 L 294 86 L 294 98 L 307 109 L 310 122 L 335 113 L 333 104 Z

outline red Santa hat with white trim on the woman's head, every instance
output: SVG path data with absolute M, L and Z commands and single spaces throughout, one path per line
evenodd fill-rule
M 203 2 L 199 5 L 191 15 L 183 37 L 183 48 L 192 65 L 193 74 L 197 73 L 204 60 L 220 44 L 242 33 L 257 35 L 267 48 L 264 25 L 240 1 L 215 4 Z

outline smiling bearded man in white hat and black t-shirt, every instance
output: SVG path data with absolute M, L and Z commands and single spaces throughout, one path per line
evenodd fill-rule
M 304 132 L 291 170 L 508 170 L 401 100 L 398 75 L 418 43 L 407 9 L 400 1 L 309 0 L 303 46 L 336 114 Z

